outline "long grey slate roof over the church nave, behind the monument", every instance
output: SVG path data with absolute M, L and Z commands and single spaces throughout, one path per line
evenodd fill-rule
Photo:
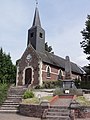
M 45 52 L 45 54 L 39 52 L 38 54 L 43 62 L 65 70 L 65 59 L 48 52 Z M 78 74 L 84 74 L 84 70 L 73 62 L 71 62 L 71 71 Z

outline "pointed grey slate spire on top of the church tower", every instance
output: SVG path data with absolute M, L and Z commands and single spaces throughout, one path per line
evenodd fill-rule
M 39 17 L 39 11 L 38 11 L 37 7 L 35 9 L 34 20 L 33 20 L 33 25 L 32 26 L 40 26 L 41 27 L 41 22 L 40 22 L 40 17 Z

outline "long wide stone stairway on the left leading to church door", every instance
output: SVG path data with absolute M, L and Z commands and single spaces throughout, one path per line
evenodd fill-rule
M 13 87 L 8 91 L 6 101 L 0 107 L 0 113 L 15 113 L 18 112 L 19 103 L 22 100 L 22 95 L 27 88 L 25 86 Z

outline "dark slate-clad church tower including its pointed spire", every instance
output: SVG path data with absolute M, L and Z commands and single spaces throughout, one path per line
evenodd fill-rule
M 45 51 L 45 31 L 41 27 L 39 11 L 36 7 L 32 27 L 28 30 L 27 46 L 31 44 L 38 52 Z

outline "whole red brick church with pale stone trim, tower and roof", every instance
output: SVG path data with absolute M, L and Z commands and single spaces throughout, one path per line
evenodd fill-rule
M 65 79 L 65 59 L 45 51 L 45 31 L 36 7 L 32 27 L 28 30 L 27 47 L 17 60 L 16 85 L 41 85 L 46 80 Z M 72 79 L 81 78 L 83 70 L 71 63 Z

